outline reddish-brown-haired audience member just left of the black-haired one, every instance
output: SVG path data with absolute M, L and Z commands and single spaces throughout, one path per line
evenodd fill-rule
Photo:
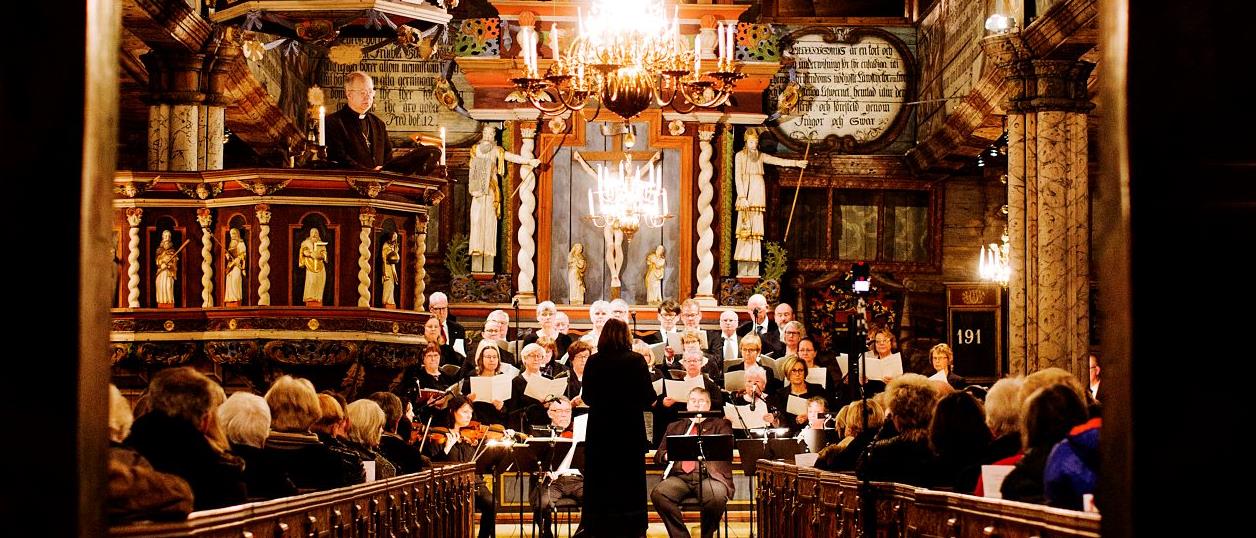
M 928 488 L 936 480 L 928 429 L 937 390 L 924 376 L 908 373 L 891 381 L 885 392 L 889 395 L 889 420 L 898 435 L 873 442 L 855 471 L 867 480 Z

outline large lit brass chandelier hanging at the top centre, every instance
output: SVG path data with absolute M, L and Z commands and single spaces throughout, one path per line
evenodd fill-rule
M 598 101 L 624 121 L 651 104 L 688 113 L 723 106 L 745 78 L 734 60 L 736 23 L 717 31 L 715 68 L 702 72 L 701 39 L 690 48 L 681 38 L 679 13 L 668 20 L 661 0 L 595 0 L 589 16 L 577 15 L 575 39 L 544 74 L 538 69 L 535 31 L 521 36 L 525 73 L 511 82 L 545 116 L 583 109 Z

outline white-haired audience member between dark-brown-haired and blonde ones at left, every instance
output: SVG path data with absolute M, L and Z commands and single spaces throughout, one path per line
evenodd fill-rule
M 296 486 L 281 465 L 270 461 L 263 446 L 270 435 L 270 406 L 251 392 L 240 391 L 219 406 L 219 424 L 231 454 L 244 459 L 249 499 L 266 500 L 296 494 Z M 360 481 L 360 480 L 358 480 Z

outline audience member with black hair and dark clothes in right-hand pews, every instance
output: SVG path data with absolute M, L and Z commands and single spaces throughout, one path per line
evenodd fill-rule
M 952 392 L 938 400 L 929 422 L 929 447 L 937 456 L 936 486 L 972 491 L 992 439 L 986 414 L 976 397 L 967 392 Z

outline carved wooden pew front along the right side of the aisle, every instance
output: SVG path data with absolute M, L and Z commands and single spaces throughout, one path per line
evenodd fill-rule
M 756 510 L 764 538 L 1099 537 L 1099 514 L 872 483 L 854 475 L 760 461 Z

